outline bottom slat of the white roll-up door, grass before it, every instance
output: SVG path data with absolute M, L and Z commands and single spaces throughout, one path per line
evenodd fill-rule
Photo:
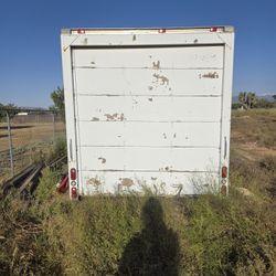
M 142 192 L 149 188 L 158 194 L 197 194 L 217 189 L 217 173 L 203 172 L 114 172 L 83 171 L 86 194 Z

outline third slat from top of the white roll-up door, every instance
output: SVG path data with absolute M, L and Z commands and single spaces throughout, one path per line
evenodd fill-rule
M 220 121 L 221 97 L 78 96 L 78 120 Z

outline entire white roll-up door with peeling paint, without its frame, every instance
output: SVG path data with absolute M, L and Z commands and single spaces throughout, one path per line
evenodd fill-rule
M 199 193 L 220 169 L 223 46 L 73 50 L 84 194 Z

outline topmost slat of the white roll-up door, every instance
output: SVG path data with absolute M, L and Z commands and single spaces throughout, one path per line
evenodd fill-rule
M 223 46 L 76 49 L 74 50 L 74 66 L 96 68 L 222 68 Z

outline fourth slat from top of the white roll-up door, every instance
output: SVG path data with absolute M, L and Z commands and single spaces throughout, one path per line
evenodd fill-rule
M 81 146 L 220 147 L 220 123 L 79 121 L 78 126 L 85 134 Z

